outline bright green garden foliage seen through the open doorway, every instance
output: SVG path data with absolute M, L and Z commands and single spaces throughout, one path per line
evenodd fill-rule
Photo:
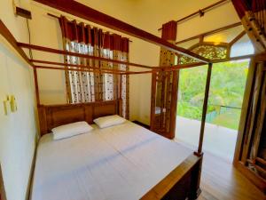
M 247 60 L 217 63 L 213 66 L 207 112 L 218 111 L 220 106 L 241 108 L 248 69 Z M 179 80 L 177 115 L 201 119 L 207 66 L 182 69 Z M 224 114 L 225 115 L 225 114 Z M 215 124 L 237 128 L 236 113 L 214 119 Z M 225 122 L 226 121 L 226 122 Z M 232 124 L 231 124 L 231 123 Z

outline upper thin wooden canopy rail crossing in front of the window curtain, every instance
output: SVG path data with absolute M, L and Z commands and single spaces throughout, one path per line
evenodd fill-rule
M 106 59 L 106 58 L 102 58 L 102 57 L 98 57 L 98 56 L 91 56 L 88 54 L 82 54 L 82 53 L 78 53 L 78 52 L 67 52 L 67 51 L 63 51 L 63 50 L 52 49 L 49 47 L 44 47 L 44 46 L 39 46 L 39 45 L 34 45 L 34 44 L 26 44 L 26 43 L 17 43 L 17 44 L 22 48 L 33 49 L 33 50 L 37 50 L 37 51 L 41 51 L 41 52 L 51 52 L 51 53 L 56 53 L 56 54 L 75 56 L 75 57 L 92 59 L 92 60 L 103 60 L 106 62 L 112 62 L 112 63 L 122 64 L 122 65 L 129 65 L 129 66 L 134 66 L 134 67 L 139 67 L 139 68 L 153 68 L 150 66 L 140 65 L 137 63 L 130 63 L 130 62 L 125 62 L 125 61 L 120 61 L 120 60 Z

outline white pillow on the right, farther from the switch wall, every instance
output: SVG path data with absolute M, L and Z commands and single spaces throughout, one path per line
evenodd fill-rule
M 95 124 L 98 124 L 98 126 L 100 128 L 106 128 L 112 125 L 117 125 L 117 124 L 122 124 L 126 121 L 126 119 L 124 119 L 121 116 L 102 116 L 102 117 L 98 117 L 97 119 L 93 120 L 93 122 Z

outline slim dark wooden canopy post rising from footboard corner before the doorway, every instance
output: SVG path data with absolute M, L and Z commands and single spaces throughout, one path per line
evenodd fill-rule
M 212 75 L 212 68 L 213 68 L 213 63 L 208 63 L 205 96 L 204 96 L 202 116 L 201 116 L 201 125 L 200 125 L 199 147 L 198 147 L 198 151 L 194 152 L 194 154 L 197 156 L 202 155 L 202 144 L 203 144 L 204 128 L 205 128 L 205 121 L 206 121 L 206 114 L 207 114 L 207 100 L 208 100 L 208 92 L 209 92 L 210 80 L 211 80 L 211 75 Z

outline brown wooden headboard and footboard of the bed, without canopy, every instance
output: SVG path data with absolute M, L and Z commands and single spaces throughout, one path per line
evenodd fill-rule
M 81 104 L 39 105 L 39 126 L 41 135 L 51 129 L 78 121 L 93 124 L 100 116 L 121 115 L 121 100 L 108 100 Z M 155 134 L 155 133 L 154 133 Z M 163 180 L 148 191 L 141 200 L 184 200 L 196 199 L 200 195 L 200 172 L 202 155 L 192 153 L 182 164 L 169 172 Z

